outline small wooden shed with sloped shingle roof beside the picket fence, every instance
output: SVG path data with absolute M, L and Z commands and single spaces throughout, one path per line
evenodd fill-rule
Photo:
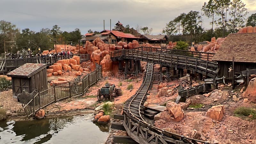
M 16 97 L 22 90 L 31 93 L 34 89 L 47 89 L 46 66 L 47 64 L 26 63 L 9 72 L 7 76 L 12 77 L 13 96 Z

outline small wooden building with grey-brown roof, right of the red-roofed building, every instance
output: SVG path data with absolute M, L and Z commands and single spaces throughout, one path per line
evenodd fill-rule
M 140 35 L 143 43 L 149 44 L 166 44 L 168 37 L 166 35 Z

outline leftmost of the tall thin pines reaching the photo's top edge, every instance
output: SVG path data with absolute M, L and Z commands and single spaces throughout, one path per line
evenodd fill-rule
M 206 16 L 207 18 L 212 18 L 212 34 L 213 34 L 213 23 L 214 23 L 214 15 L 216 12 L 216 5 L 214 4 L 215 0 L 209 0 L 208 3 L 204 2 L 204 5 L 202 7 L 202 15 Z

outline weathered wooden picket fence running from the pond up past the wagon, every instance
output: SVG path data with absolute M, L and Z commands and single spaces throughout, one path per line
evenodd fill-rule
M 35 96 L 33 96 L 31 100 L 23 101 L 22 107 L 24 108 L 27 116 L 35 116 L 39 109 L 52 103 L 83 95 L 90 86 L 97 83 L 101 76 L 102 67 L 83 78 L 77 77 L 65 84 L 53 85 L 42 92 L 36 91 Z

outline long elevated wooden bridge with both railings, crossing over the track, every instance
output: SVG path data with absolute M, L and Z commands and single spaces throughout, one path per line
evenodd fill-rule
M 168 49 L 162 51 L 162 48 L 139 47 L 132 50 L 113 51 L 110 52 L 110 56 L 114 61 L 127 59 L 146 61 L 160 64 L 161 66 L 192 70 L 209 77 L 216 76 L 217 63 L 210 61 L 212 59 L 212 53 L 181 51 L 180 55 L 176 55 L 178 51 L 176 54 L 174 51 Z

